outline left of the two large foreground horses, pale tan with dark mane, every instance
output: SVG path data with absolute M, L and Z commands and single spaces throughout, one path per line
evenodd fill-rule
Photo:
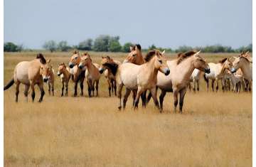
M 119 109 L 122 108 L 122 87 L 125 86 L 126 92 L 123 99 L 123 108 L 126 106 L 127 98 L 131 90 L 137 90 L 134 109 L 138 107 L 139 97 L 146 90 L 150 90 L 156 107 L 159 102 L 156 98 L 156 76 L 158 71 L 164 75 L 169 75 L 170 70 L 166 65 L 166 58 L 159 50 L 151 50 L 147 53 L 146 63 L 135 65 L 132 63 L 122 63 L 117 70 L 117 97 L 119 98 Z

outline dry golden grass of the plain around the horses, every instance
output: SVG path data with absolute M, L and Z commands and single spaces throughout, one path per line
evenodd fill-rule
M 93 60 L 99 63 L 102 54 L 92 53 Z M 206 58 L 223 56 L 228 55 Z M 16 63 L 33 57 L 6 53 L 4 83 Z M 124 54 L 114 57 L 122 60 Z M 68 62 L 68 53 L 46 58 L 56 70 Z M 153 102 L 134 112 L 131 99 L 127 110 L 118 112 L 103 77 L 100 97 L 93 98 L 71 97 L 73 83 L 70 96 L 60 97 L 56 82 L 56 96 L 47 94 L 41 104 L 25 102 L 22 93 L 16 104 L 14 87 L 4 92 L 5 166 L 252 166 L 252 94 L 207 93 L 202 80 L 201 92 L 187 93 L 183 114 L 173 113 L 171 94 L 163 114 Z M 87 86 L 84 90 L 87 96 Z

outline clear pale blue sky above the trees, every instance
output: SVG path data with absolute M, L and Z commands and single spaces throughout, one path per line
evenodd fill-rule
M 239 48 L 252 43 L 252 0 L 4 0 L 4 42 L 40 49 L 101 34 L 142 48 Z

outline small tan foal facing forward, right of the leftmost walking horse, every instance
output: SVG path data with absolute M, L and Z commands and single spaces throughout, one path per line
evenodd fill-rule
M 65 90 L 65 95 L 68 96 L 68 82 L 70 80 L 70 68 L 65 66 L 65 63 L 60 63 L 58 66 L 58 76 L 60 76 L 60 81 L 62 83 L 62 88 L 61 88 L 61 96 L 63 96 L 64 92 L 64 84 L 66 87 Z

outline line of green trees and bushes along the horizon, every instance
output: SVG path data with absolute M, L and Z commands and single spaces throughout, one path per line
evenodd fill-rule
M 119 36 L 108 36 L 108 35 L 100 35 L 95 40 L 92 38 L 88 38 L 85 41 L 81 41 L 78 45 L 68 45 L 67 41 L 60 41 L 56 43 L 53 40 L 46 41 L 43 44 L 43 48 L 45 50 L 49 50 L 50 52 L 55 51 L 68 51 L 73 49 L 78 50 L 93 50 L 96 52 L 123 52 L 128 53 L 129 47 L 133 45 L 132 43 L 124 43 L 121 45 L 119 43 Z M 159 49 L 159 50 L 166 50 L 168 53 L 180 53 L 186 52 L 188 50 L 201 50 L 203 53 L 240 53 L 243 50 L 252 52 L 252 43 L 247 46 L 242 46 L 240 48 L 232 48 L 230 46 L 223 46 L 223 45 L 206 45 L 206 46 L 197 46 L 191 47 L 187 45 L 182 45 L 177 49 L 171 48 L 161 48 L 157 47 L 156 45 L 150 45 L 148 48 L 144 48 L 144 51 L 152 50 L 152 49 Z M 8 42 L 4 43 L 4 51 L 5 52 L 19 52 L 24 50 L 23 45 L 16 45 L 14 43 Z

